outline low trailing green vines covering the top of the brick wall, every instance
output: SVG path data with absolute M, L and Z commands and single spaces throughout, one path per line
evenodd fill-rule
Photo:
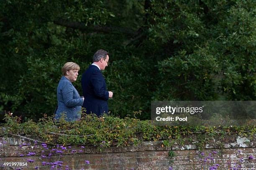
M 231 133 L 240 136 L 252 136 L 256 133 L 255 126 L 240 127 L 187 127 L 187 126 L 154 126 L 149 120 L 139 120 L 136 118 L 111 117 L 104 115 L 83 115 L 81 121 L 67 122 L 60 119 L 59 122 L 53 122 L 53 117 L 44 115 L 38 122 L 31 120 L 21 123 L 20 118 L 13 117 L 10 113 L 5 115 L 6 128 L 2 135 L 26 135 L 33 139 L 49 144 L 83 144 L 94 145 L 100 150 L 109 146 L 128 146 L 138 145 L 142 141 L 163 140 L 163 145 L 171 147 L 174 143 L 184 145 L 191 139 L 185 138 L 193 133 L 197 134 L 195 145 L 200 149 L 209 141 L 218 136 L 230 135 Z M 31 137 L 30 137 L 31 138 Z M 170 158 L 175 156 L 169 153 Z

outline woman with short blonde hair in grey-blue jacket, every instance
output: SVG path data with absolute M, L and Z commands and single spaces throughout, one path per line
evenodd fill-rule
M 79 120 L 81 115 L 81 106 L 84 97 L 80 97 L 72 82 L 77 80 L 80 67 L 74 62 L 66 62 L 61 68 L 62 77 L 57 87 L 58 108 L 56 110 L 55 120 L 59 121 L 61 115 L 65 120 L 72 122 Z

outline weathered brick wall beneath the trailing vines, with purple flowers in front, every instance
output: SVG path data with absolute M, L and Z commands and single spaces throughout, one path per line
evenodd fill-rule
M 256 135 L 215 138 L 202 146 L 201 152 L 197 147 L 198 143 L 193 137 L 190 142 L 182 145 L 173 143 L 169 147 L 159 140 L 137 146 L 110 148 L 41 145 L 24 138 L 1 137 L 0 169 L 209 170 L 210 166 L 217 164 L 221 170 L 228 167 L 242 170 L 256 168 Z M 8 168 L 4 163 L 27 165 Z

